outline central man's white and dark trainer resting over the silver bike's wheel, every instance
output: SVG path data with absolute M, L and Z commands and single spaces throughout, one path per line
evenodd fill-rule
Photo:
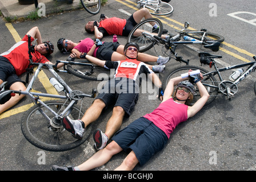
M 65 116 L 62 120 L 63 127 L 69 131 L 73 136 L 77 139 L 81 139 L 83 137 L 83 132 L 85 132 L 85 123 L 83 123 L 80 119 L 73 120 L 70 117 Z

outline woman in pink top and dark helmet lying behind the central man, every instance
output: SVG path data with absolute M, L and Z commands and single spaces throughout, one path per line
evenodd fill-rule
M 123 53 L 125 46 L 118 42 L 102 42 L 101 46 L 97 46 L 97 43 L 91 38 L 80 40 L 78 43 L 74 43 L 71 40 L 61 38 L 57 42 L 59 51 L 62 53 L 75 53 L 80 59 L 83 53 L 87 53 L 90 56 L 97 57 L 101 60 L 120 61 L 125 60 L 126 57 Z M 165 65 L 171 57 L 163 56 L 151 56 L 146 53 L 138 53 L 138 61 L 142 62 L 157 62 L 158 65 L 149 65 L 149 68 L 156 72 L 164 72 Z

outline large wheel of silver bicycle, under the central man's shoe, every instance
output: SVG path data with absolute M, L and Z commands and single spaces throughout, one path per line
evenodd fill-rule
M 62 101 L 46 101 L 45 104 L 56 113 L 66 108 L 69 103 Z M 81 119 L 85 111 L 73 105 L 69 117 L 71 119 Z M 49 118 L 49 119 L 46 119 Z M 54 117 L 50 110 L 41 104 L 31 107 L 22 118 L 21 130 L 24 137 L 35 147 L 47 151 L 67 151 L 80 146 L 89 137 L 91 125 L 85 129 L 82 139 L 75 139 L 69 131 L 66 131 L 61 119 Z

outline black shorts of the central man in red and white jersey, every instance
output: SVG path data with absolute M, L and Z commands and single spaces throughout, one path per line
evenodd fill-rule
M 129 117 L 134 110 L 139 98 L 139 86 L 136 86 L 131 79 L 120 78 L 106 82 L 102 90 L 95 99 L 101 99 L 107 109 L 110 105 L 120 106 L 125 111 L 125 116 Z M 130 85 L 130 86 L 129 86 Z

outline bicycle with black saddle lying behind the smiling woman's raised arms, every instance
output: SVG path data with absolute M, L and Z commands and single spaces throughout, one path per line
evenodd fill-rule
M 191 69 L 192 71 L 195 71 L 199 69 L 203 75 L 203 80 L 201 80 L 202 84 L 205 85 L 208 93 L 210 94 L 209 100 L 206 102 L 206 105 L 210 104 L 215 100 L 217 96 L 227 96 L 229 100 L 231 100 L 232 97 L 238 92 L 238 84 L 241 82 L 246 76 L 250 75 L 251 72 L 255 71 L 256 68 L 256 56 L 253 56 L 254 61 L 250 63 L 243 63 L 243 64 L 237 64 L 237 65 L 231 65 L 229 67 L 223 67 L 218 68 L 215 58 L 222 58 L 222 56 L 218 55 L 211 55 L 207 52 L 200 52 L 199 53 L 200 62 L 201 64 L 207 64 L 210 66 L 210 68 L 214 67 L 215 71 L 207 71 L 206 69 L 203 69 L 201 67 L 195 67 L 195 66 L 185 66 L 185 67 L 179 67 L 174 68 L 169 75 L 165 78 L 164 85 L 166 86 L 169 82 L 170 78 L 174 78 L 177 76 L 181 76 L 183 73 L 189 72 Z M 221 75 L 221 72 L 225 72 L 227 70 L 235 69 L 235 68 L 246 68 L 243 73 L 241 73 L 240 76 L 237 78 L 234 78 L 234 81 L 225 80 L 223 76 Z M 218 81 L 214 76 L 218 76 Z M 256 85 L 256 82 L 255 84 Z M 256 94 L 256 90 L 254 87 L 254 92 Z M 197 89 L 197 92 L 194 95 L 193 103 L 196 102 L 200 96 Z

